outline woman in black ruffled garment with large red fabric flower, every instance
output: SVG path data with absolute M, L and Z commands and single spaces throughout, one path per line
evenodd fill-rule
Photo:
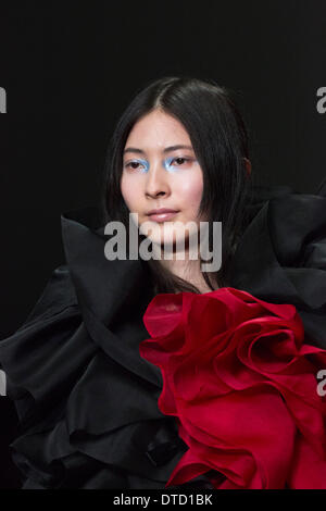
M 251 179 L 226 89 L 166 77 L 134 98 L 101 208 L 62 215 L 66 264 L 0 345 L 23 488 L 326 487 L 325 190 Z M 129 213 L 139 254 L 171 259 L 108 257 Z M 200 222 L 222 222 L 216 271 L 190 258 Z

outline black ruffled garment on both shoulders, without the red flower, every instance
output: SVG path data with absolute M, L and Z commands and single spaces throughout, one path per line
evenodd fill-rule
M 325 195 L 256 187 L 229 278 L 260 299 L 294 304 L 306 341 L 324 349 Z M 187 446 L 158 408 L 160 370 L 139 354 L 154 296 L 149 269 L 105 259 L 97 208 L 61 221 L 66 264 L 0 342 L 21 423 L 11 448 L 23 488 L 163 489 Z M 181 486 L 212 488 L 205 476 Z

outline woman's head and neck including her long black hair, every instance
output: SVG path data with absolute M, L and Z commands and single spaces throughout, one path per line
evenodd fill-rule
M 177 146 L 186 148 L 170 149 Z M 224 285 L 246 222 L 251 170 L 246 127 L 224 88 L 187 78 L 150 84 L 122 115 L 106 169 L 104 222 L 118 219 L 127 224 L 131 211 L 138 213 L 141 225 L 151 219 L 149 210 L 163 207 L 178 209 L 173 222 L 223 222 L 224 263 L 218 277 L 202 275 L 199 260 L 179 264 L 150 260 L 156 290 L 212 290 L 218 287 L 217 281 Z M 154 244 L 161 240 L 164 225 L 153 223 L 150 239 Z M 177 229 L 174 235 L 166 233 L 166 242 L 168 236 L 175 236 L 176 241 L 184 234 L 178 235 Z

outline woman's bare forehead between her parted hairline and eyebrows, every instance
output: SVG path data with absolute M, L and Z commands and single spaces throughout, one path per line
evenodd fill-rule
M 140 149 L 164 149 L 176 144 L 191 146 L 190 137 L 184 125 L 174 116 L 154 110 L 141 117 L 129 133 L 127 146 Z

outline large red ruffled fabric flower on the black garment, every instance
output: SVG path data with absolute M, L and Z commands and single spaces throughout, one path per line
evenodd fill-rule
M 225 287 L 160 294 L 140 354 L 162 371 L 159 408 L 189 449 L 167 484 L 326 488 L 326 350 L 304 342 L 296 307 Z

